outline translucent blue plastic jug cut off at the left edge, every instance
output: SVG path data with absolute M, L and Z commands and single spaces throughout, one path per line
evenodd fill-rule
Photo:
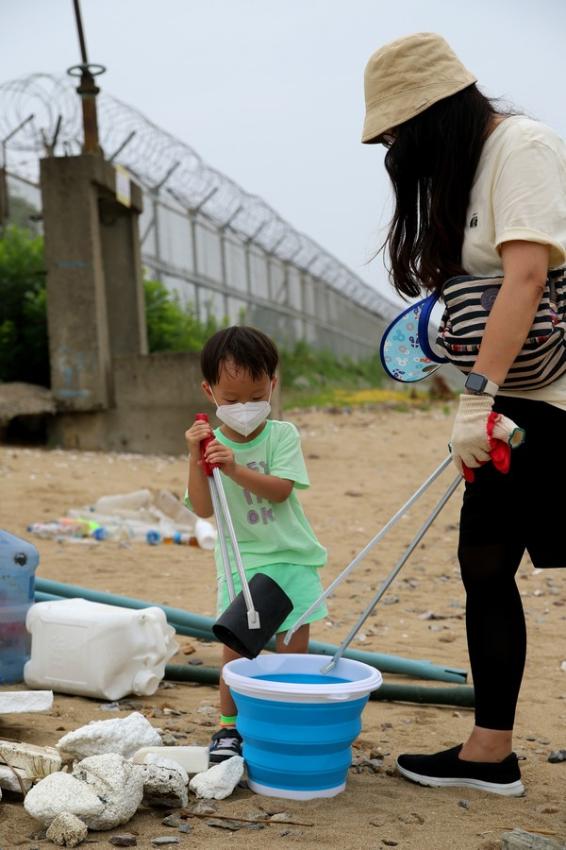
M 26 615 L 38 563 L 32 543 L 0 530 L 0 684 L 23 679 L 30 653 Z

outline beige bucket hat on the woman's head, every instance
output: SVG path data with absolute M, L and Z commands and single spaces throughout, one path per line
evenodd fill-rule
M 382 133 L 475 82 L 436 33 L 418 32 L 386 44 L 366 65 L 362 142 L 377 142 Z

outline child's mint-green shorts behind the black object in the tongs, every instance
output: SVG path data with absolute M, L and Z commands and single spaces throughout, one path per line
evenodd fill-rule
M 277 629 L 278 634 L 279 632 L 288 631 L 297 622 L 299 617 L 310 608 L 312 603 L 318 599 L 323 590 L 319 567 L 303 567 L 296 564 L 270 564 L 267 567 L 254 567 L 253 569 L 246 570 L 248 582 L 252 580 L 256 573 L 264 573 L 276 581 L 293 603 L 293 610 Z M 233 578 L 234 590 L 236 593 L 239 593 L 242 589 L 240 576 L 236 573 L 233 575 Z M 224 576 L 219 576 L 218 616 L 220 616 L 229 604 L 230 600 L 228 598 L 226 579 Z M 307 623 L 314 623 L 315 620 L 322 620 L 326 616 L 328 616 L 328 608 L 323 602 L 313 611 Z

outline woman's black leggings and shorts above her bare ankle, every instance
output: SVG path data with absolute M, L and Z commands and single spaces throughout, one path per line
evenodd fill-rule
M 566 411 L 504 396 L 495 410 L 525 428 L 526 440 L 514 450 L 509 474 L 486 464 L 466 484 L 458 557 L 476 724 L 512 729 L 527 645 L 515 575 L 525 549 L 536 567 L 566 566 L 564 502 L 549 492 L 549 479 L 560 487 L 566 473 Z

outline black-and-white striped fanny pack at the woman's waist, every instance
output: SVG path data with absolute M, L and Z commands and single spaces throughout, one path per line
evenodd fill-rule
M 437 345 L 467 374 L 478 356 L 486 322 L 502 277 L 451 277 L 442 288 L 445 304 Z M 549 272 L 533 324 L 502 389 L 535 390 L 566 372 L 566 269 Z

